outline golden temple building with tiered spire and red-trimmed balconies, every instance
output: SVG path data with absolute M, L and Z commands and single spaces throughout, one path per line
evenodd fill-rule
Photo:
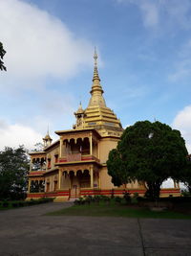
M 27 199 L 54 198 L 64 201 L 88 195 L 122 196 L 124 189 L 143 196 L 142 182 L 115 187 L 107 173 L 109 151 L 117 147 L 123 132 L 120 120 L 103 98 L 97 71 L 97 55 L 91 98 L 87 108 L 80 103 L 72 129 L 57 130 L 59 139 L 53 142 L 49 131 L 43 138 L 44 150 L 32 151 Z M 162 189 L 161 196 L 180 195 L 178 184 Z

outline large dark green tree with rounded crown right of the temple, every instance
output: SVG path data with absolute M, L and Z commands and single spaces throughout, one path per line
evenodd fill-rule
M 146 196 L 159 198 L 164 180 L 180 180 L 185 174 L 186 156 L 179 130 L 159 122 L 137 122 L 124 130 L 117 150 L 110 151 L 108 174 L 117 186 L 129 180 L 144 181 Z

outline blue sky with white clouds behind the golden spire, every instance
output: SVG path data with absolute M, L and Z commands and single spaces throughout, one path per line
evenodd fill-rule
M 190 0 L 0 0 L 0 150 L 73 127 L 90 99 L 94 48 L 123 128 L 158 120 L 191 153 Z

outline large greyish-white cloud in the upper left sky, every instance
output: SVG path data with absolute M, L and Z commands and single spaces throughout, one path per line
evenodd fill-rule
M 48 12 L 19 0 L 0 0 L 0 12 L 0 39 L 7 51 L 4 80 L 68 78 L 91 63 L 91 43 Z

